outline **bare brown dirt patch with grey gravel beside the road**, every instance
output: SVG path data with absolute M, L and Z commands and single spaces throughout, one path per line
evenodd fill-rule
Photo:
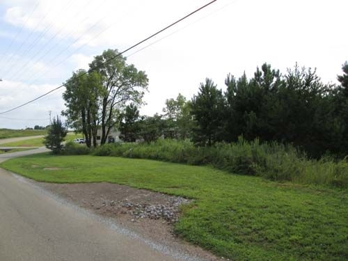
M 106 182 L 85 184 L 37 182 L 37 184 L 80 207 L 86 207 L 96 214 L 114 219 L 121 226 L 153 242 L 170 246 L 180 253 L 196 256 L 200 260 L 226 260 L 216 258 L 173 234 L 173 223 L 180 216 L 180 205 L 190 203 L 191 200 Z

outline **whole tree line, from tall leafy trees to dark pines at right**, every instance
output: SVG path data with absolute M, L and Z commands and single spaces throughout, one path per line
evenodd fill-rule
M 77 70 L 67 81 L 63 115 L 68 126 L 84 133 L 88 147 L 97 145 L 98 129 L 104 144 L 118 128 L 125 142 L 162 137 L 209 146 L 243 136 L 292 143 L 315 158 L 326 152 L 347 155 L 348 63 L 342 70 L 334 85 L 323 84 L 310 68 L 295 65 L 281 74 L 264 63 L 251 79 L 228 74 L 226 91 L 205 79 L 191 100 L 179 94 L 166 100 L 163 114 L 141 116 L 148 78 L 109 49 L 94 58 L 90 70 Z

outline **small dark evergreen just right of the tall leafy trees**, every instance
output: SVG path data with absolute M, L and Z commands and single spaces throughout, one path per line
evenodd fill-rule
M 121 114 L 120 122 L 120 139 L 125 142 L 134 142 L 139 139 L 139 132 L 141 130 L 139 122 L 139 109 L 131 103 L 126 106 L 125 112 Z

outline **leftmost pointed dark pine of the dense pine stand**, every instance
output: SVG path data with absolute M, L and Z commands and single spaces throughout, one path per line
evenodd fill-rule
M 221 90 L 211 79 L 200 84 L 198 95 L 193 96 L 191 114 L 196 121 L 193 128 L 193 141 L 199 145 L 212 145 L 223 140 L 223 122 L 226 109 Z

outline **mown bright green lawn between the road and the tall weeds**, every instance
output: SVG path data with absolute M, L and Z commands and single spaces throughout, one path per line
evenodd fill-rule
M 118 157 L 44 154 L 1 166 L 38 181 L 113 182 L 193 198 L 175 232 L 232 260 L 348 260 L 347 190 Z

